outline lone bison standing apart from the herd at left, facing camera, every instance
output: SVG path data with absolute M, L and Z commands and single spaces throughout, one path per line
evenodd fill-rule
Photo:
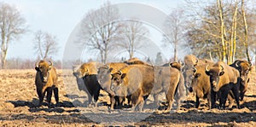
M 51 106 L 51 96 L 52 91 L 55 94 L 56 106 L 59 103 L 59 89 L 57 85 L 57 72 L 52 62 L 49 61 L 39 61 L 35 69 L 37 70 L 35 84 L 37 87 L 37 93 L 39 97 L 39 106 L 42 105 L 44 101 L 45 92 L 47 92 L 47 102 L 48 107 Z

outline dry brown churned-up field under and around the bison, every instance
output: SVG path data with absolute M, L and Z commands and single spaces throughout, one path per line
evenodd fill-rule
M 195 108 L 195 97 L 189 95 L 181 110 L 165 113 L 151 109 L 149 97 L 143 113 L 131 112 L 130 108 L 108 110 L 108 94 L 101 91 L 98 107 L 85 107 L 87 95 L 79 91 L 76 80 L 69 70 L 59 72 L 60 107 L 38 106 L 38 95 L 34 84 L 34 70 L 0 71 L 0 126 L 256 126 L 256 74 L 251 80 L 241 109 L 207 110 L 207 101 L 201 100 Z M 164 95 L 160 100 L 164 101 Z M 52 102 L 55 103 L 54 97 Z M 154 106 L 152 106 L 154 107 Z M 175 108 L 175 105 L 174 105 Z

